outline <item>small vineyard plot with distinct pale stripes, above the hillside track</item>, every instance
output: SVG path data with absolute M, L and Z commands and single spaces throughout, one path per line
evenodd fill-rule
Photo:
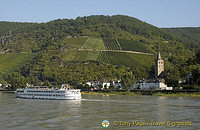
M 106 50 L 121 50 L 115 39 L 103 39 Z

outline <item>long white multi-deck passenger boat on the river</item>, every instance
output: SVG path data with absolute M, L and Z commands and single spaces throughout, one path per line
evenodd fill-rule
M 18 98 L 28 99 L 54 99 L 54 100 L 76 100 L 81 99 L 80 89 L 71 89 L 63 84 L 60 89 L 48 87 L 26 87 L 15 91 Z

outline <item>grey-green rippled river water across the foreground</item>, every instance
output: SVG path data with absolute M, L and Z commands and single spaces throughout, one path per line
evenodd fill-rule
M 0 129 L 104 129 L 103 120 L 108 120 L 108 128 L 113 129 L 200 129 L 200 98 L 119 95 L 82 98 L 19 99 L 11 93 L 0 93 Z M 166 125 L 169 121 L 191 122 L 192 126 L 173 127 Z M 142 122 L 166 124 L 136 126 Z

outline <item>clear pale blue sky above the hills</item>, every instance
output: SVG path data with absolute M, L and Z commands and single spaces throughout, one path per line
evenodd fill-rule
M 157 27 L 200 27 L 200 0 L 0 0 L 0 21 L 128 15 Z

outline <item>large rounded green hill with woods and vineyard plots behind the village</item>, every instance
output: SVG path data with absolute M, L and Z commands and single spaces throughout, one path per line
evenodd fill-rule
M 168 29 L 123 15 L 48 23 L 0 22 L 0 28 L 0 61 L 4 63 L 0 65 L 0 79 L 10 81 L 21 75 L 34 83 L 98 79 L 130 82 L 134 77 L 152 78 L 158 50 L 166 70 L 170 70 L 181 68 L 199 47 Z M 196 32 L 193 34 L 196 36 Z M 178 71 L 183 77 L 190 70 Z

